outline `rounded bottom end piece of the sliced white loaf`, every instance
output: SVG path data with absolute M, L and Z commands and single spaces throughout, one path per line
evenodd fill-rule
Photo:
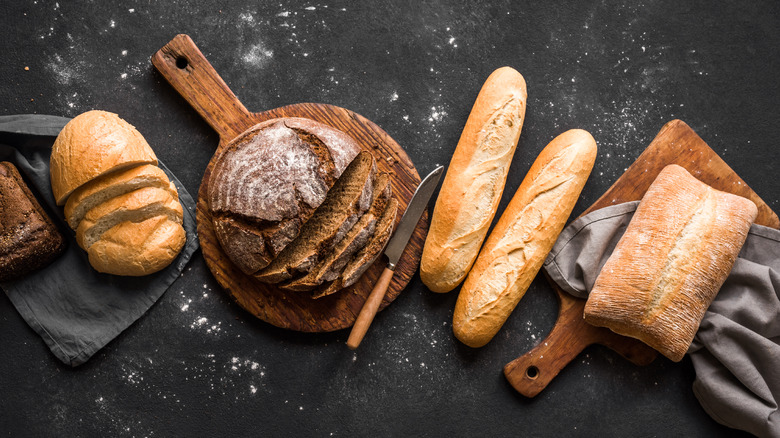
M 185 241 L 181 224 L 167 216 L 155 216 L 113 226 L 89 247 L 87 254 L 98 272 L 141 276 L 168 266 Z

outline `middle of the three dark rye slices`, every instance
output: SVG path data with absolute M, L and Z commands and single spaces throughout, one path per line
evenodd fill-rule
M 371 207 L 357 223 L 347 232 L 333 250 L 328 253 L 308 274 L 279 285 L 279 288 L 295 292 L 314 289 L 320 284 L 333 281 L 341 275 L 341 271 L 352 256 L 366 245 L 374 234 L 377 218 L 382 214 L 392 195 L 390 175 L 383 173 L 374 180 L 373 200 Z

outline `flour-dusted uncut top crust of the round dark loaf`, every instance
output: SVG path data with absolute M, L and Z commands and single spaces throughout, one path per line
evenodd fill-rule
M 209 206 L 256 221 L 307 215 L 360 151 L 348 135 L 303 118 L 263 122 L 220 155 Z

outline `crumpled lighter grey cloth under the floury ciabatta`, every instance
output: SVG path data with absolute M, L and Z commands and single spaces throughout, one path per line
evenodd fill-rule
M 639 202 L 571 223 L 544 264 L 566 292 L 587 298 Z M 753 225 L 688 349 L 693 391 L 717 422 L 780 437 L 780 231 Z

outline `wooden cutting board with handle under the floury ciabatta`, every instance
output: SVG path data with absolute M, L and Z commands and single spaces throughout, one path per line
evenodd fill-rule
M 664 125 L 639 158 L 582 215 L 642 199 L 661 169 L 669 164 L 684 167 L 716 189 L 752 200 L 758 206 L 756 223 L 780 228 L 777 214 L 681 120 Z M 637 365 L 647 365 L 655 359 L 658 353 L 642 342 L 586 323 L 583 319 L 585 300 L 563 292 L 552 281 L 550 284 L 560 301 L 555 326 L 539 345 L 504 367 L 504 375 L 518 392 L 527 397 L 536 396 L 592 344 L 605 345 Z

